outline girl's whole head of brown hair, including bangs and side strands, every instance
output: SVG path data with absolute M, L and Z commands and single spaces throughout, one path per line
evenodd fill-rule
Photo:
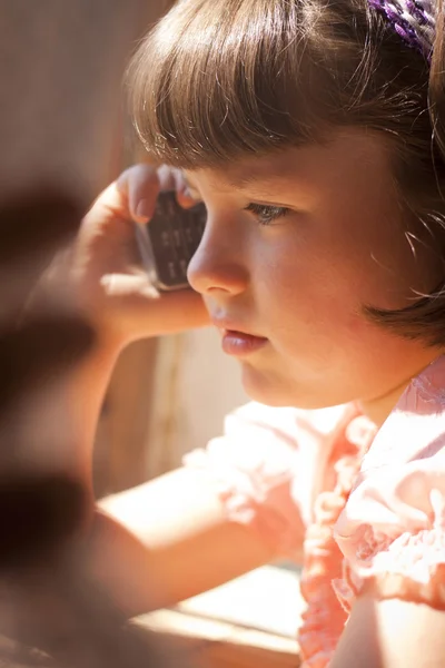
M 429 69 L 367 0 L 180 0 L 130 66 L 135 125 L 156 159 L 191 169 L 324 141 L 333 127 L 383 132 L 413 234 L 426 227 L 445 264 L 442 51 Z M 443 345 L 444 306 L 441 286 L 367 313 Z

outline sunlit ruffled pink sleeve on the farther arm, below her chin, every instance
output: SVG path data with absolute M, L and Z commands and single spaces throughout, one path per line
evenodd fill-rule
M 215 480 L 230 520 L 250 527 L 275 553 L 293 558 L 301 549 L 314 485 L 344 412 L 250 403 L 230 413 L 224 435 L 186 455 L 185 464 Z

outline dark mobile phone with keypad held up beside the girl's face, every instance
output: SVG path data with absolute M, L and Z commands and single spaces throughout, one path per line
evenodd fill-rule
M 204 204 L 185 209 L 175 193 L 160 193 L 147 225 L 136 226 L 145 267 L 161 291 L 189 287 L 187 267 L 201 240 L 207 219 Z

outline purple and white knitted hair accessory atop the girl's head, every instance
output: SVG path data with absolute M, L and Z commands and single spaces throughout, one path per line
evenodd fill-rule
M 433 0 L 368 0 L 383 12 L 394 30 L 409 46 L 431 59 L 435 35 Z

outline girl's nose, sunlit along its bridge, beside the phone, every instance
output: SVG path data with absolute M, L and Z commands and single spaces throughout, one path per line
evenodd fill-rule
M 201 295 L 243 293 L 249 282 L 244 245 L 233 226 L 211 222 L 209 217 L 201 243 L 188 266 L 191 287 Z

